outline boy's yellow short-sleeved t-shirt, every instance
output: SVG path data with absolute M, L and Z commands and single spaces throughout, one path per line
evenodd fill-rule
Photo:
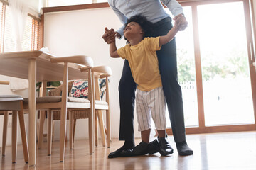
M 160 50 L 159 37 L 144 38 L 137 45 L 127 44 L 117 50 L 119 57 L 129 61 L 132 77 L 141 91 L 162 86 L 156 51 Z

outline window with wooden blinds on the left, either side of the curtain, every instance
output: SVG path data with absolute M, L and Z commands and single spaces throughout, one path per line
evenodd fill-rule
M 0 52 L 13 52 L 15 50 L 14 34 L 11 23 L 11 10 L 8 5 L 0 2 Z M 39 21 L 27 16 L 23 33 L 23 50 L 38 50 Z

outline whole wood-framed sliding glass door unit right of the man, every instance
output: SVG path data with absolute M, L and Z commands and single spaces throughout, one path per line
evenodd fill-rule
M 186 132 L 254 130 L 255 48 L 249 1 L 181 5 L 188 28 L 176 35 L 176 44 Z

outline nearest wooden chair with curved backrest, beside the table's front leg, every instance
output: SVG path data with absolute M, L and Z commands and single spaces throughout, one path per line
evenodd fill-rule
M 52 124 L 51 124 L 51 118 L 52 118 L 52 112 L 54 110 L 60 110 L 60 162 L 64 161 L 64 153 L 65 153 L 65 133 L 66 133 L 66 119 L 67 119 L 67 110 L 88 110 L 90 112 L 90 118 L 89 118 L 89 130 L 93 127 L 93 108 L 91 105 L 92 101 L 92 85 L 90 85 L 89 88 L 89 98 L 70 98 L 68 97 L 68 63 L 75 63 L 75 64 L 82 64 L 86 67 L 90 68 L 93 67 L 93 61 L 90 57 L 78 55 L 78 56 L 71 56 L 71 57 L 55 57 L 51 58 L 50 62 L 53 63 L 60 63 L 63 64 L 63 90 L 62 90 L 62 96 L 44 96 L 39 97 L 36 99 L 36 109 L 37 110 L 46 110 L 48 111 L 48 127 L 50 129 L 48 130 L 48 146 L 51 146 L 51 131 L 52 131 Z M 78 65 L 78 68 L 81 66 Z M 91 80 L 91 72 L 88 72 L 85 77 L 81 77 L 81 79 L 89 79 Z M 58 80 L 55 80 L 58 81 Z M 89 81 L 89 84 L 92 84 L 91 81 Z M 24 108 L 28 108 L 28 99 L 24 99 Z M 89 134 L 89 138 L 92 139 L 93 134 Z M 90 153 L 92 153 L 92 142 L 93 140 L 90 140 Z M 51 150 L 49 150 L 51 147 L 48 147 L 48 154 L 50 154 Z

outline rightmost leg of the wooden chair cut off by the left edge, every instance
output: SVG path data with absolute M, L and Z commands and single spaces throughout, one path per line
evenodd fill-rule
M 26 163 L 28 163 L 28 141 L 26 138 L 26 127 L 25 127 L 23 102 L 22 101 L 21 101 L 21 111 L 18 111 L 18 120 L 19 120 L 20 128 L 21 128 L 21 140 L 22 140 L 24 161 Z

